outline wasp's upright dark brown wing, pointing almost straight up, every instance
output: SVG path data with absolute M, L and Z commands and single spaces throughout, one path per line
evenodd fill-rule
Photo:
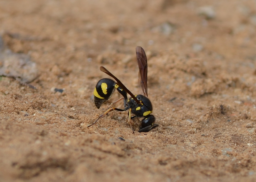
M 136 56 L 139 66 L 139 83 L 144 96 L 148 97 L 148 61 L 144 49 L 136 47 Z

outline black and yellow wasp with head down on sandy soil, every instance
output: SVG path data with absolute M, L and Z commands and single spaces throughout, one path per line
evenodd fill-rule
M 148 61 L 147 56 L 144 49 L 140 46 L 136 47 L 136 57 L 139 66 L 139 84 L 143 91 L 143 95 L 134 95 L 130 90 L 128 90 L 124 84 L 116 78 L 112 73 L 110 73 L 105 67 L 100 67 L 100 71 L 103 71 L 107 75 L 111 76 L 116 80 L 116 82 L 109 78 L 101 79 L 94 89 L 94 104 L 99 109 L 100 106 L 108 101 L 113 95 L 114 91 L 117 90 L 123 98 L 118 99 L 116 102 L 124 99 L 124 109 L 119 109 L 116 107 L 109 108 L 106 112 L 101 114 L 96 121 L 88 126 L 92 126 L 95 124 L 101 117 L 106 115 L 108 112 L 116 110 L 116 111 L 127 111 L 128 110 L 128 123 L 134 133 L 132 128 L 131 119 L 135 117 L 143 117 L 141 120 L 141 127 L 139 132 L 148 132 L 153 128 L 156 128 L 158 124 L 155 124 L 156 118 L 152 115 L 152 104 L 148 99 Z M 127 98 L 127 94 L 131 96 L 130 99 Z M 116 103 L 114 102 L 114 103 Z M 112 103 L 112 104 L 114 104 Z M 112 105 L 111 104 L 111 105 Z M 132 116 L 133 114 L 133 116 Z

